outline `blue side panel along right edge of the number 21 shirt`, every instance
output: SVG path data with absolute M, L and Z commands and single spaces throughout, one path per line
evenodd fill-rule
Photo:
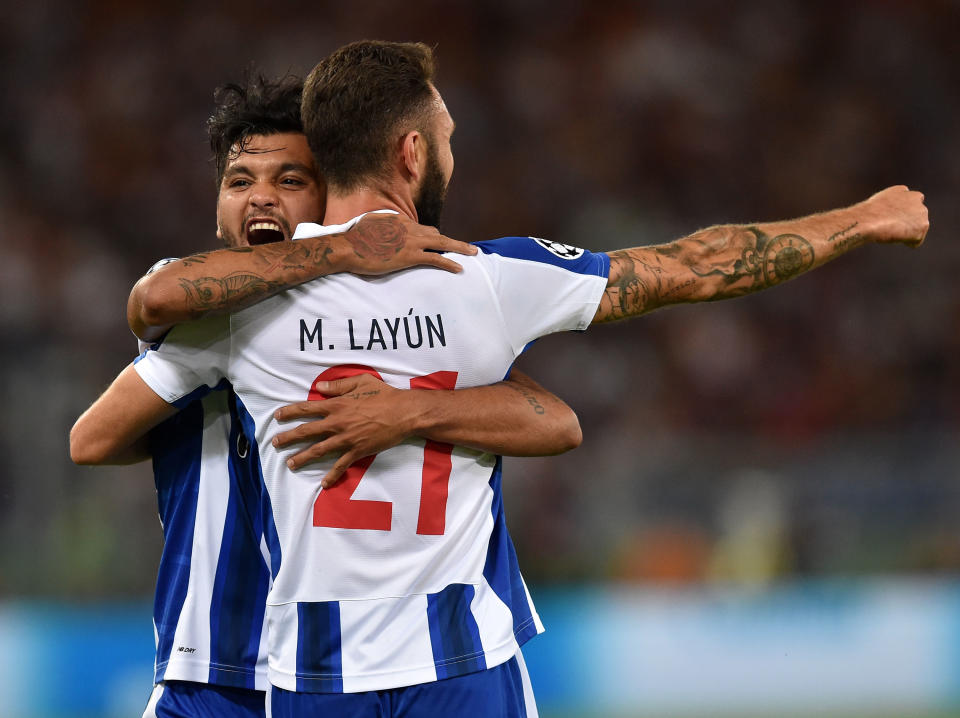
M 483 577 L 513 614 L 513 635 L 522 646 L 537 635 L 537 624 L 533 620 L 527 592 L 523 587 L 517 552 L 513 548 L 510 534 L 507 533 L 507 521 L 503 512 L 502 473 L 503 459 L 498 456 L 497 465 L 490 477 L 490 488 L 493 489 L 493 502 L 490 507 L 493 513 L 493 531 L 487 546 Z

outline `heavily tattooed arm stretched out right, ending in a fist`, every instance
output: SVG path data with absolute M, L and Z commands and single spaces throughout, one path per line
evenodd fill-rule
M 898 186 L 802 219 L 709 227 L 669 244 L 610 252 L 607 291 L 593 321 L 750 294 L 863 244 L 918 246 L 928 227 L 923 195 Z

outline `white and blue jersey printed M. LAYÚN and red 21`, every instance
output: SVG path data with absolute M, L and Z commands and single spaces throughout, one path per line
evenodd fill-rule
M 355 221 L 355 220 L 354 220 Z M 344 231 L 303 226 L 297 236 Z M 296 472 L 270 441 L 280 406 L 322 399 L 317 381 L 361 372 L 404 389 L 502 379 L 534 339 L 585 329 L 609 259 L 530 237 L 478 244 L 463 271 L 334 275 L 228 317 L 175 327 L 137 365 L 161 397 L 224 378 L 256 437 L 269 678 L 281 688 L 356 692 L 483 670 L 543 630 L 507 533 L 499 457 L 423 439 L 354 464 Z

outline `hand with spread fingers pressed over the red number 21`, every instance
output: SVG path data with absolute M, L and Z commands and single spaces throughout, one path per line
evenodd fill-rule
M 282 449 L 290 444 L 317 442 L 287 459 L 290 469 L 341 453 L 322 479 L 325 489 L 336 485 L 354 462 L 396 446 L 413 433 L 418 414 L 414 395 L 418 392 L 395 389 L 369 374 L 314 386 L 328 398 L 290 404 L 278 409 L 274 417 L 277 421 L 318 420 L 277 434 L 273 445 Z

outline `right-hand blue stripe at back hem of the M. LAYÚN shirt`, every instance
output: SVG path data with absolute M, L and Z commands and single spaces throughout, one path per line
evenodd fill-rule
M 487 667 L 480 630 L 470 611 L 475 593 L 469 584 L 454 583 L 440 593 L 427 594 L 427 623 L 438 680 Z

